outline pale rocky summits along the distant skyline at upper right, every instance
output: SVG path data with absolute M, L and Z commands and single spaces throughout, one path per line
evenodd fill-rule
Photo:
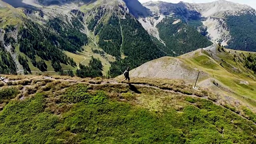
M 179 2 L 178 4 L 168 3 L 168 2 L 146 2 L 143 4 L 145 7 L 149 8 L 154 12 L 166 13 L 168 14 L 178 10 L 190 10 L 190 11 L 197 11 L 204 17 L 223 17 L 225 14 L 228 15 L 239 15 L 239 14 L 255 14 L 255 10 L 245 4 L 238 4 L 226 0 L 218 0 L 214 2 L 208 3 L 186 3 L 186 2 Z

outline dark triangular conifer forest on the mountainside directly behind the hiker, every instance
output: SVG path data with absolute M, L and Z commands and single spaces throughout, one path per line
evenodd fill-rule
M 112 20 L 112 23 L 118 24 L 118 19 L 116 19 L 116 22 L 114 22 L 114 19 Z M 120 26 L 124 37 L 120 51 L 126 57 L 124 59 L 117 58 L 115 62 L 110 62 L 111 67 L 108 74 L 111 77 L 122 74 L 127 67 L 133 69 L 145 62 L 166 55 L 152 41 L 150 35 L 138 20 L 133 18 L 130 14 L 127 14 L 125 19 L 120 19 Z M 103 32 L 103 30 L 100 31 L 100 35 L 104 34 Z

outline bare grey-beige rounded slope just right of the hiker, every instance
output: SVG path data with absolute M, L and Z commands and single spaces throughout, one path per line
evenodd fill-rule
M 186 82 L 194 82 L 197 75 L 197 69 L 187 66 L 178 58 L 172 57 L 162 57 L 152 60 L 130 71 L 131 77 L 182 79 Z M 199 78 L 206 76 L 208 74 L 201 72 Z

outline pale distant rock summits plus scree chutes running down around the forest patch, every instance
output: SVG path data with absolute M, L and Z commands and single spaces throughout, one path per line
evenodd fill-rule
M 209 38 L 209 40 L 213 43 L 220 43 L 223 46 L 226 46 L 228 41 L 231 39 L 229 28 L 225 22 L 226 16 L 256 14 L 256 10 L 248 5 L 238 4 L 226 0 L 199 4 L 190 4 L 185 2 L 172 4 L 168 2 L 150 1 L 144 3 L 143 6 L 152 11 L 153 16 L 151 16 L 151 18 L 162 17 L 162 19 L 164 19 L 168 16 L 178 16 L 185 21 L 200 20 L 203 23 L 204 28 L 207 28 L 206 36 Z M 144 26 L 144 28 L 148 30 L 150 34 L 152 34 L 152 36 L 158 38 L 156 24 L 159 22 L 157 20 L 151 21 L 154 24 L 147 25 L 146 23 L 148 22 L 140 22 L 142 23 L 142 26 Z

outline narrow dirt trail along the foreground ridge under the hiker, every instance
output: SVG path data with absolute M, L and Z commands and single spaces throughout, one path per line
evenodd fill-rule
M 28 79 L 29 80 L 29 79 Z M 33 80 L 33 79 L 30 79 L 31 81 Z M 156 90 L 162 90 L 162 91 L 164 91 L 164 92 L 170 92 L 171 94 L 180 94 L 180 95 L 182 95 L 182 96 L 189 96 L 189 97 L 192 97 L 192 98 L 200 98 L 200 99 L 205 99 L 205 100 L 209 100 L 208 98 L 206 98 L 206 97 L 199 97 L 199 96 L 196 96 L 196 95 L 194 95 L 194 94 L 183 94 L 182 92 L 176 92 L 176 91 L 174 91 L 174 90 L 169 90 L 169 89 L 163 89 L 163 88 L 159 88 L 159 87 L 157 87 L 157 86 L 150 86 L 150 85 L 148 85 L 148 84 L 126 84 L 126 83 L 120 83 L 120 82 L 117 82 L 116 80 L 110 80 L 110 81 L 108 81 L 108 82 L 101 82 L 100 84 L 94 84 L 94 83 L 90 83 L 90 82 L 79 82 L 79 81 L 77 81 L 77 80 L 69 80 L 69 79 L 66 79 L 66 80 L 64 80 L 64 79 L 56 79 L 56 78 L 52 78 L 52 77 L 50 77 L 50 76 L 44 76 L 44 78 L 38 78 L 38 79 L 36 79 L 36 80 L 56 80 L 56 81 L 61 81 L 61 82 L 71 82 L 71 83 L 81 83 L 81 84 L 88 84 L 89 86 L 97 86 L 97 85 L 108 85 L 108 84 L 116 84 L 116 85 L 126 85 L 126 86 L 140 86 L 140 87 L 147 87 L 147 88 L 153 88 L 153 89 L 156 89 Z M 20 80 L 6 80 L 5 79 L 5 82 L 18 82 L 18 81 L 20 81 Z M 23 89 L 22 89 L 22 92 L 27 88 L 27 87 L 29 87 L 30 85 L 25 85 L 24 87 L 23 87 Z M 134 91 L 134 90 L 132 90 L 132 91 Z M 140 94 L 140 92 L 139 91 L 134 91 L 135 93 L 139 93 Z M 214 101 L 212 101 L 212 100 L 210 100 L 211 102 L 213 102 L 214 104 L 216 104 L 217 106 L 221 106 L 222 108 L 225 108 L 224 106 L 222 106 L 221 104 L 219 104 L 218 102 L 214 102 Z M 228 108 L 225 108 L 225 109 L 227 109 L 227 110 L 229 110 L 230 112 L 232 112 L 233 114 L 236 114 L 236 115 L 239 115 L 240 117 L 242 117 L 242 118 L 244 118 L 244 119 L 246 119 L 246 120 L 249 120 L 249 119 L 247 119 L 247 118 L 245 118 L 244 116 L 242 116 L 240 113 L 238 114 L 238 113 L 236 113 L 236 112 L 233 112 L 232 110 L 230 110 L 230 109 L 228 109 Z M 256 123 L 254 123 L 252 120 L 249 120 L 250 122 L 252 122 L 254 125 L 256 125 Z

